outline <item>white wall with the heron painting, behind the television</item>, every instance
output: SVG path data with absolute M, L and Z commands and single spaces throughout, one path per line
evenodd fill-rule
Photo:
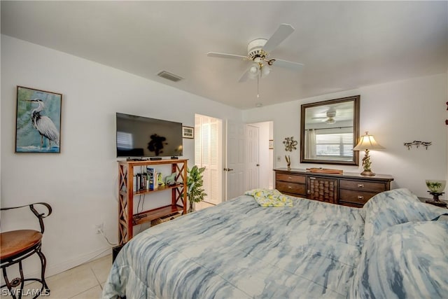
M 14 153 L 16 86 L 62 93 L 60 154 Z M 230 106 L 32 43 L 1 36 L 1 206 L 48 202 L 43 252 L 51 275 L 110 246 L 96 235 L 104 223 L 118 239 L 115 113 L 195 125 L 195 113 L 241 121 Z M 194 164 L 194 141 L 183 139 Z M 168 200 L 169 202 L 169 200 Z M 25 213 L 27 214 L 27 213 Z M 1 229 L 27 228 L 35 219 L 1 214 Z M 110 251 L 109 251 L 110 252 Z M 37 272 L 37 263 L 25 267 Z

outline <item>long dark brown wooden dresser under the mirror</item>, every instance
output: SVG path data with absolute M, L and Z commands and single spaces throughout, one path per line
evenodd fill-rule
M 274 172 L 275 188 L 281 193 L 349 207 L 363 207 L 377 193 L 391 190 L 393 181 L 392 176 L 384 174 L 322 174 L 286 168 L 276 168 Z

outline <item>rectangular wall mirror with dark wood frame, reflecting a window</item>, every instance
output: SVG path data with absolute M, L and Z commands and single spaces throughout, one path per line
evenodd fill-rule
M 303 104 L 300 162 L 358 165 L 360 96 Z

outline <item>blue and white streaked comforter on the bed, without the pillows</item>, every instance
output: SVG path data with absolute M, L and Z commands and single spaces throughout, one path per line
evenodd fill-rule
M 243 195 L 149 228 L 116 258 L 103 298 L 346 298 L 362 209 Z

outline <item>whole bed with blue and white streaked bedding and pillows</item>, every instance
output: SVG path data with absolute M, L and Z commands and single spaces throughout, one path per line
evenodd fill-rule
M 447 209 L 407 189 L 362 209 L 288 200 L 262 207 L 252 190 L 141 232 L 102 298 L 446 298 Z

